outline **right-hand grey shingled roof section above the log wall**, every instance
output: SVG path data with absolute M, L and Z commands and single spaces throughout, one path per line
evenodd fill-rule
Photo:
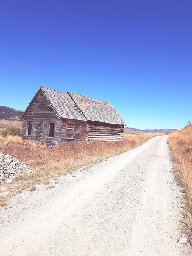
M 88 121 L 125 125 L 125 122 L 111 103 L 85 97 L 73 92 L 67 93 L 71 96 Z M 86 108 L 83 108 L 82 103 L 86 103 Z

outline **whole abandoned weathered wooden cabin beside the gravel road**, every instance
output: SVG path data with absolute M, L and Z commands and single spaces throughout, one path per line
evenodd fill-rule
M 121 141 L 125 122 L 106 101 L 40 87 L 22 115 L 22 138 L 47 144 Z

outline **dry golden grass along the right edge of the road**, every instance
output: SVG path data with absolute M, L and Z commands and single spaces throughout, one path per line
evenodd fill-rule
M 175 160 L 175 173 L 186 192 L 185 227 L 192 240 L 192 125 L 171 133 L 168 142 Z

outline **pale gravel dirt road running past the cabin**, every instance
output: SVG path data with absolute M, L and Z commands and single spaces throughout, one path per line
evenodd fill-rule
M 0 255 L 184 255 L 182 195 L 166 141 L 154 137 L 53 189 L 15 196 L 0 211 Z

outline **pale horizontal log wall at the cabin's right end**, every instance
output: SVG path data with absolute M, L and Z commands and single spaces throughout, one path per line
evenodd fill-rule
M 91 141 L 121 141 L 124 127 L 115 124 L 100 124 L 89 122 L 87 126 L 87 142 Z

